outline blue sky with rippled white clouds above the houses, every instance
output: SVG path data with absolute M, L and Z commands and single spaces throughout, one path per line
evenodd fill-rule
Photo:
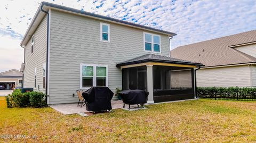
M 255 0 L 49 0 L 55 4 L 175 32 L 171 49 L 256 29 Z M 1 0 L 0 72 L 20 69 L 19 46 L 41 1 Z

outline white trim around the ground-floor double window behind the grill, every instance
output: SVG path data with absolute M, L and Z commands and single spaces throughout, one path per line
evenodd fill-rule
M 93 66 L 93 82 L 92 82 L 92 86 L 96 86 L 96 67 L 97 66 L 103 66 L 106 67 L 106 87 L 108 87 L 108 65 L 100 65 L 100 64 L 80 64 L 80 89 L 89 89 L 91 87 L 83 87 L 83 75 L 82 75 L 82 70 L 83 70 L 83 66 Z

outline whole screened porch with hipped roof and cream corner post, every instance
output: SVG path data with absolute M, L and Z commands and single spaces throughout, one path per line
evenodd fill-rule
M 148 103 L 195 99 L 195 72 L 200 63 L 147 54 L 119 63 L 122 89 L 149 92 Z

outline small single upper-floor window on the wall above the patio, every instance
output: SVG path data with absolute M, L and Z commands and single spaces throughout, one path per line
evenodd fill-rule
M 100 22 L 100 41 L 110 42 L 110 25 Z

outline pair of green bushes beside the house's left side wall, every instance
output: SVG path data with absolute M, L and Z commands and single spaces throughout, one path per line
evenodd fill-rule
M 20 89 L 15 89 L 12 94 L 6 96 L 7 107 L 45 107 L 45 97 L 43 92 L 31 91 L 21 93 Z

